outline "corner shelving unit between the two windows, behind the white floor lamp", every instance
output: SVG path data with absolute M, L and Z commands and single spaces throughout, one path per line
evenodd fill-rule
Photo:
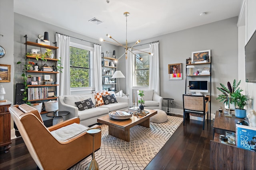
M 103 89 L 108 91 L 116 91 L 116 80 L 112 79 L 114 72 L 116 71 L 116 66 L 111 65 L 111 63 L 115 64 L 117 59 L 111 57 L 103 57 L 104 53 L 102 53 L 102 84 Z M 112 82 L 109 82 L 112 80 Z M 110 90 L 109 88 L 114 88 L 114 90 Z

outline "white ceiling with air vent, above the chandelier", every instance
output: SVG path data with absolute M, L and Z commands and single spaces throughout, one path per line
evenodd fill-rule
M 242 0 L 14 0 L 14 12 L 92 37 L 124 44 L 239 15 Z M 206 12 L 205 16 L 199 16 Z M 96 25 L 92 18 L 103 21 Z M 47 30 L 46 30 L 47 31 Z M 110 40 L 111 41 L 111 40 Z

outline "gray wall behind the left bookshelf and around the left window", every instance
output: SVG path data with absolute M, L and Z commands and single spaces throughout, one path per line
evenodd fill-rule
M 51 25 L 39 20 L 35 20 L 33 18 L 29 18 L 17 13 L 14 13 L 14 63 L 18 61 L 25 62 L 25 37 L 28 36 L 28 41 L 36 42 L 38 39 L 38 35 L 44 35 L 44 32 L 47 31 L 49 33 L 49 39 L 52 46 L 55 46 L 53 42 L 55 42 L 55 33 L 64 33 L 66 35 L 70 35 L 72 37 L 77 37 L 79 39 L 84 39 L 86 41 L 90 41 L 93 43 L 101 44 L 101 42 L 97 39 L 92 39 L 90 37 L 80 35 L 78 33 L 69 31 L 67 29 L 63 29 L 61 27 L 57 27 L 55 25 Z M 93 43 L 88 43 L 86 41 L 81 41 L 79 39 L 70 38 L 70 41 L 74 43 L 80 43 L 83 45 L 87 45 L 89 47 L 93 47 Z M 28 46 L 29 49 L 34 48 L 33 46 Z M 102 43 L 102 52 L 104 52 L 104 57 L 106 56 L 106 51 L 116 50 L 118 53 L 118 48 L 115 45 L 110 45 L 108 43 Z M 29 52 L 29 51 L 28 51 Z M 112 53 L 110 53 L 112 54 Z M 109 55 L 110 55 L 109 54 Z M 40 65 L 40 63 L 39 63 Z M 23 64 L 15 64 L 15 72 L 14 72 L 14 84 L 23 83 L 21 71 Z M 91 91 L 83 91 L 82 93 L 90 93 Z M 81 94 L 80 92 L 72 92 L 72 94 Z M 15 95 L 15 94 L 14 94 Z

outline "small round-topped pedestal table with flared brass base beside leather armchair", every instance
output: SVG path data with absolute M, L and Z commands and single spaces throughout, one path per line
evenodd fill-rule
M 86 170 L 98 170 L 99 169 L 99 165 L 94 157 L 94 136 L 96 134 L 100 133 L 100 131 L 101 131 L 100 128 L 91 128 L 91 129 L 86 130 L 86 133 L 88 133 L 89 135 L 92 136 L 92 160 L 91 160 L 90 164 L 88 165 L 88 167 L 86 168 Z

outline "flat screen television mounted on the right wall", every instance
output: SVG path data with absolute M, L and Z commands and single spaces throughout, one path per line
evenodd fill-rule
M 245 80 L 256 83 L 256 31 L 245 45 Z

